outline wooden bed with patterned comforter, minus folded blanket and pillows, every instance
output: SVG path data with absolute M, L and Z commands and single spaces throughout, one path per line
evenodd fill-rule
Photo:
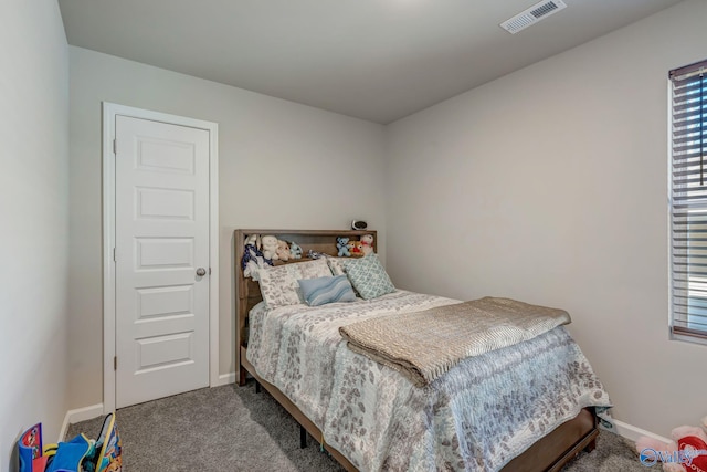
M 296 241 L 305 268 L 315 265 L 309 251 L 337 255 L 338 237 L 377 241 L 377 233 L 234 232 L 238 384 L 250 374 L 345 469 L 556 471 L 594 448 L 609 398 L 562 326 L 464 359 L 418 387 L 349 349 L 339 328 L 460 301 L 395 290 L 352 303 L 266 307 L 261 284 L 241 269 L 252 234 Z

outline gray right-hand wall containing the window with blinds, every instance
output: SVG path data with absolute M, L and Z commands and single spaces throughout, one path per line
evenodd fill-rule
M 615 417 L 665 437 L 707 413 L 707 346 L 668 340 L 666 204 L 667 72 L 705 59 L 706 18 L 678 3 L 387 129 L 393 280 L 567 308 Z

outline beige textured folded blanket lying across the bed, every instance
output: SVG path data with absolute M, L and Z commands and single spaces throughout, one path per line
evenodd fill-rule
M 570 323 L 563 310 L 484 297 L 339 328 L 356 353 L 423 387 L 469 356 L 511 346 Z

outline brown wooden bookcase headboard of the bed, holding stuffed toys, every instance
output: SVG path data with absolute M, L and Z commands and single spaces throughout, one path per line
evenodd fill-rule
M 241 260 L 243 259 L 244 242 L 251 234 L 272 234 L 279 240 L 295 241 L 303 252 L 302 259 L 289 260 L 287 262 L 276 261 L 275 264 L 289 264 L 310 261 L 306 255 L 309 251 L 321 252 L 329 255 L 337 255 L 337 237 L 346 237 L 352 241 L 359 240 L 363 234 L 373 235 L 373 249 L 378 252 L 377 231 L 350 231 L 350 230 L 235 230 L 233 241 L 235 245 L 235 365 L 239 371 L 236 379 L 239 385 L 245 384 L 245 368 L 241 365 L 241 356 L 245 354 L 247 347 L 247 315 L 253 306 L 263 300 L 257 282 L 243 276 Z

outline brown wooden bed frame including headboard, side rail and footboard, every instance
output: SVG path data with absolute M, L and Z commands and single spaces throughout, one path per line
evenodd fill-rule
M 306 430 L 313 438 L 320 442 L 347 471 L 357 469 L 339 451 L 323 441 L 321 431 L 274 385 L 263 380 L 245 356 L 247 349 L 247 316 L 255 304 L 263 300 L 257 282 L 243 276 L 241 270 L 241 259 L 243 258 L 243 243 L 250 234 L 273 234 L 277 239 L 295 241 L 303 249 L 303 259 L 288 261 L 285 263 L 296 263 L 307 261 L 306 254 L 309 251 L 337 255 L 336 238 L 347 237 L 350 240 L 358 240 L 363 234 L 372 234 L 374 238 L 373 249 L 377 249 L 378 233 L 376 231 L 338 231 L 338 230 L 235 230 L 234 253 L 235 253 L 235 365 L 238 367 L 236 381 L 239 386 L 245 385 L 246 375 L 251 375 L 262 387 L 264 387 L 302 426 L 302 431 Z M 278 263 L 283 263 L 278 261 Z M 511 460 L 503 471 L 506 472 L 536 472 L 536 471 L 559 471 L 567 462 L 572 460 L 580 451 L 592 451 L 597 444 L 599 436 L 598 420 L 593 408 L 584 408 L 580 413 L 560 424 L 552 432 L 532 444 L 523 454 Z M 304 443 L 304 436 L 302 441 Z

